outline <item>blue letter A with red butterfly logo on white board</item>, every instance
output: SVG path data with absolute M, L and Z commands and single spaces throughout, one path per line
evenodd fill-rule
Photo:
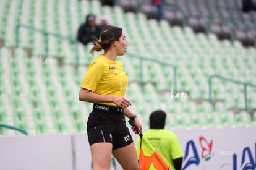
M 200 161 L 202 162 L 202 159 L 203 161 L 209 161 L 211 159 L 213 140 L 207 141 L 205 137 L 200 136 L 198 138 L 198 142 L 200 144 L 200 148 L 195 146 L 194 140 L 189 140 L 189 142 L 187 142 L 183 160 L 184 166 L 182 170 L 187 169 L 192 164 L 198 166 Z

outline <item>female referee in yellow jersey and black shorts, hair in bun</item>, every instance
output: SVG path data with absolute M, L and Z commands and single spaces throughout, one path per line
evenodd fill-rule
M 130 101 L 124 98 L 127 87 L 127 74 L 117 56 L 124 55 L 127 43 L 122 28 L 107 26 L 99 40 L 93 41 L 94 51 L 104 50 L 87 68 L 83 79 L 79 100 L 93 104 L 93 110 L 87 121 L 87 135 L 92 155 L 93 169 L 110 168 L 111 153 L 123 169 L 139 170 L 135 145 L 126 127 L 125 116 L 132 119 L 142 133 L 137 116 L 128 106 Z M 135 131 L 135 128 L 132 127 Z M 135 132 L 136 133 L 136 132 Z

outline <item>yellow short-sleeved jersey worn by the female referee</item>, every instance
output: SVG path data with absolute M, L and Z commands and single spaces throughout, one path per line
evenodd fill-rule
M 98 95 L 124 97 L 128 78 L 122 62 L 111 61 L 101 54 L 87 68 L 82 88 L 91 90 Z M 116 106 L 114 103 L 99 103 Z

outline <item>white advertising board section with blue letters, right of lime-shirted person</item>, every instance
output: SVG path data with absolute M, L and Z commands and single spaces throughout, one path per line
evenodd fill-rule
M 256 169 L 256 128 L 175 130 L 184 159 L 182 170 Z

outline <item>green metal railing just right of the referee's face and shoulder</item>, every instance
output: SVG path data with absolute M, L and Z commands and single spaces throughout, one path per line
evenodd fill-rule
M 155 62 L 157 64 L 160 64 L 161 66 L 165 66 L 165 67 L 171 67 L 173 69 L 173 82 L 174 82 L 174 91 L 177 91 L 177 69 L 176 66 L 174 66 L 171 63 L 168 62 L 163 62 L 163 61 L 159 61 L 157 59 L 150 59 L 148 57 L 143 57 L 143 56 L 139 56 L 137 54 L 132 54 L 129 52 L 126 52 L 126 55 L 130 56 L 130 57 L 135 57 L 137 59 L 140 60 L 140 86 L 142 87 L 142 92 L 144 93 L 144 85 L 145 85 L 145 81 L 144 81 L 144 74 L 143 74 L 143 61 L 150 61 L 150 62 Z

